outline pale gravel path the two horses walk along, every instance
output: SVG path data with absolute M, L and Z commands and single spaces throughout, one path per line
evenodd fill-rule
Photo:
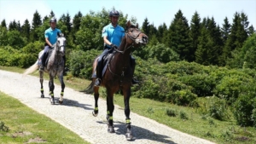
M 44 95 L 48 94 L 48 82 L 48 80 L 44 80 Z M 94 108 L 93 96 L 66 87 L 63 105 L 51 105 L 48 95 L 45 95 L 44 99 L 40 98 L 38 77 L 22 77 L 22 74 L 19 73 L 0 70 L 0 90 L 15 97 L 35 111 L 54 119 L 90 143 L 212 144 L 211 141 L 173 130 L 164 124 L 159 124 L 133 112 L 130 116 L 131 130 L 135 140 L 126 141 L 123 108 L 115 105 L 113 112 L 115 134 L 109 134 L 107 131 L 106 101 L 99 99 L 99 114 L 97 117 L 93 117 L 91 114 Z M 55 98 L 59 98 L 59 94 L 61 94 L 61 86 L 55 84 Z

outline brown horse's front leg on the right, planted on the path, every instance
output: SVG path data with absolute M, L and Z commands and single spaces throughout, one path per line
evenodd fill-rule
M 126 123 L 126 140 L 131 140 L 131 118 L 130 118 L 130 96 L 131 96 L 131 87 L 128 89 L 123 89 L 124 102 L 125 102 L 125 123 Z

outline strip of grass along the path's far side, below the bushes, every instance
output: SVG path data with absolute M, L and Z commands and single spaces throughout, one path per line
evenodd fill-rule
M 0 69 L 11 72 L 24 72 L 24 69 L 17 67 L 0 66 Z M 38 77 L 38 73 L 33 73 L 32 75 Z M 76 90 L 85 89 L 87 85 L 90 84 L 88 80 L 73 78 L 71 75 L 65 76 L 64 80 L 67 87 Z M 59 84 L 57 81 L 55 81 L 55 83 Z M 105 99 L 104 95 L 102 98 Z M 179 107 L 169 103 L 138 99 L 136 97 L 131 97 L 130 104 L 131 112 L 136 112 L 144 117 L 154 119 L 161 124 L 166 124 L 173 129 L 209 141 L 228 144 L 256 143 L 255 128 L 236 125 L 236 121 L 232 116 L 230 116 L 229 120 L 219 121 L 207 115 L 203 115 L 201 113 L 206 111 L 206 107 L 203 106 L 211 100 L 210 98 L 201 98 L 198 101 L 201 105 L 199 108 Z M 121 95 L 115 95 L 114 104 L 124 107 L 123 97 Z

